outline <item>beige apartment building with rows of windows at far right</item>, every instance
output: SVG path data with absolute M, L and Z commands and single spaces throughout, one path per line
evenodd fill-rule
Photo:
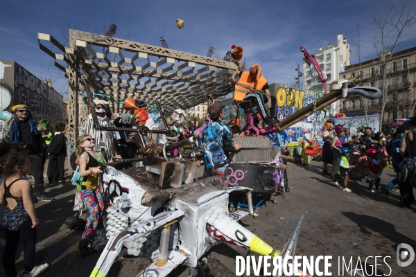
M 383 86 L 383 69 L 380 62 L 388 59 L 385 66 L 385 85 Z M 394 53 L 381 53 L 374 60 L 347 66 L 339 78 L 352 76 L 358 85 L 378 87 L 386 91 L 383 127 L 395 123 L 395 118 L 415 115 L 416 105 L 416 47 Z M 340 100 L 340 111 L 347 116 L 381 113 L 381 99 L 367 100 L 360 96 L 350 96 Z

